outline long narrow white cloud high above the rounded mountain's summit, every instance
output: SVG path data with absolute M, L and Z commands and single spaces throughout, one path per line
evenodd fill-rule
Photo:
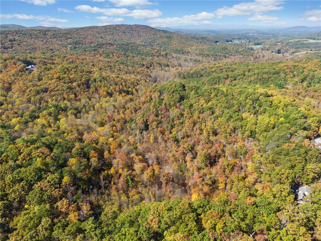
M 75 9 L 87 13 L 102 13 L 107 16 L 128 16 L 133 17 L 134 19 L 157 18 L 162 14 L 162 12 L 157 9 L 135 9 L 130 11 L 127 8 L 98 8 L 88 5 L 78 5 Z

